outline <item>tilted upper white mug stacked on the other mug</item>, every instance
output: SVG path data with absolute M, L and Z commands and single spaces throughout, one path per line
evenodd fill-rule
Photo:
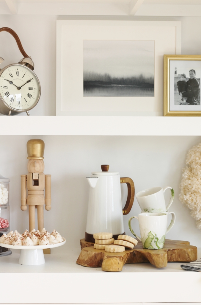
M 164 192 L 170 188 L 171 198 L 168 205 L 165 205 Z M 161 188 L 159 186 L 154 188 L 147 188 L 136 194 L 136 199 L 143 212 L 146 213 L 162 213 L 167 212 L 174 200 L 175 192 L 171 186 Z

